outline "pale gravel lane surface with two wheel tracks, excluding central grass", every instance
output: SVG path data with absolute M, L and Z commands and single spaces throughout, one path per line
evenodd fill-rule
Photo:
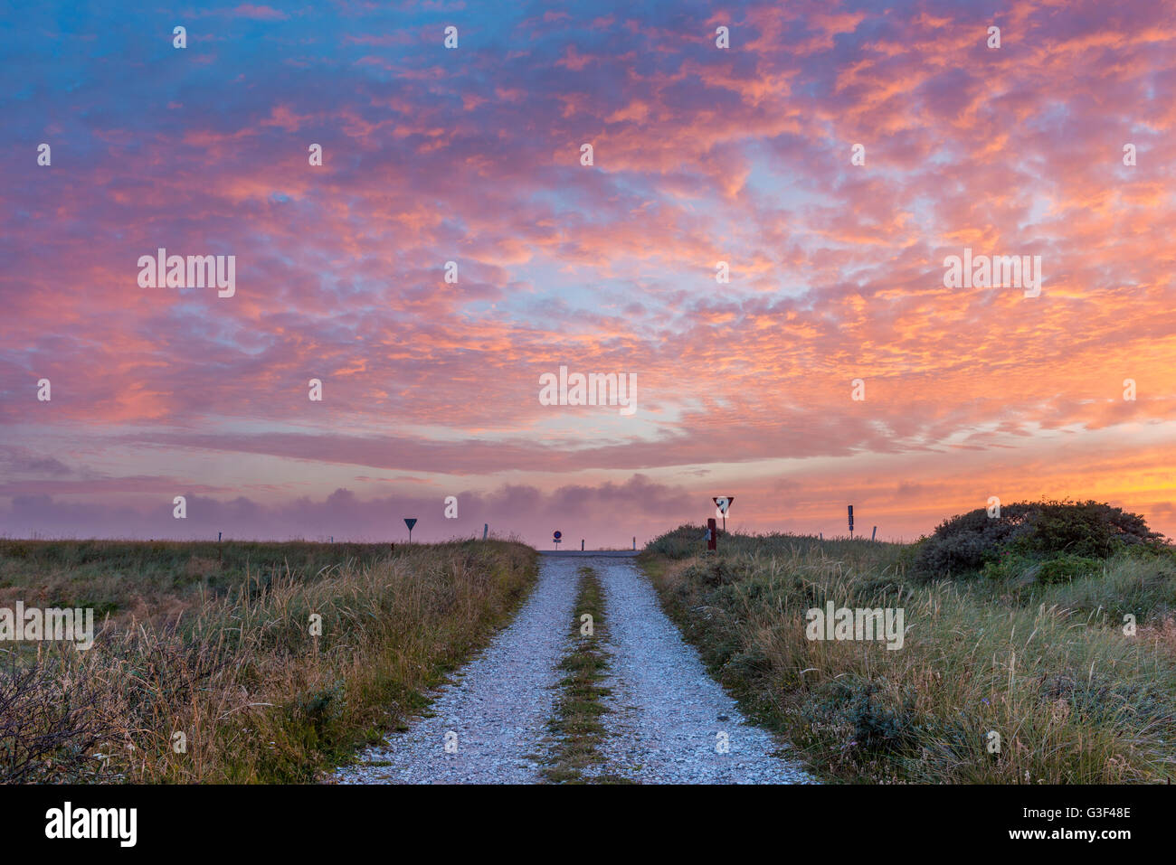
M 433 717 L 392 733 L 355 765 L 336 773 L 343 784 L 527 784 L 540 780 L 548 752 L 560 675 L 570 644 L 576 570 L 593 568 L 604 589 L 606 648 L 613 689 L 601 744 L 608 772 L 643 784 L 796 784 L 813 779 L 795 762 L 773 756 L 787 747 L 748 725 L 708 675 L 697 652 L 657 603 L 629 559 L 555 558 L 540 562 L 539 584 L 514 623 L 440 689 Z M 446 733 L 456 733 L 447 753 Z M 726 751 L 723 747 L 726 746 Z M 586 772 L 589 775 L 589 772 Z

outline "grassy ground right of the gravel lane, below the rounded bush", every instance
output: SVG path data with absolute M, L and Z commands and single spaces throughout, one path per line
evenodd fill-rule
M 1176 565 L 1121 557 L 1056 585 L 922 583 L 909 548 L 680 530 L 642 557 L 713 673 L 849 783 L 1165 783 L 1176 776 Z M 806 613 L 903 609 L 897 650 L 814 641 Z M 1123 615 L 1138 619 L 1124 632 Z M 993 736 L 996 733 L 998 739 Z M 998 742 L 998 750 L 994 746 Z

